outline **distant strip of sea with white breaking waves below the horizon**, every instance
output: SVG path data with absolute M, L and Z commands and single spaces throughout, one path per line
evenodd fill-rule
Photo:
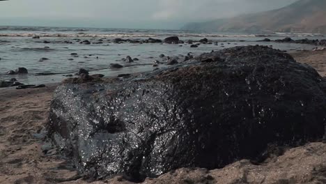
M 0 26 L 0 37 L 99 37 L 99 38 L 148 38 L 179 36 L 181 38 L 256 38 L 256 37 L 313 37 L 323 36 L 313 33 L 199 33 L 195 31 L 155 30 L 155 29 L 108 29 L 108 28 L 65 28 L 39 26 Z

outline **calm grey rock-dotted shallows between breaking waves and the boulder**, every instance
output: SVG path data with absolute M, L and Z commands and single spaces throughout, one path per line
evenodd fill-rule
M 178 35 L 178 33 L 176 33 Z M 155 60 L 162 63 L 166 58 L 160 58 L 165 54 L 171 58 L 183 60 L 187 54 L 196 56 L 210 50 L 220 50 L 234 46 L 269 45 L 275 49 L 295 52 L 300 49 L 312 50 L 315 47 L 325 49 L 325 40 L 318 41 L 315 38 L 301 39 L 284 38 L 225 38 L 221 39 L 203 37 L 192 38 L 180 36 L 180 39 L 166 41 L 155 38 L 1 38 L 3 51 L 0 55 L 3 64 L 0 72 L 0 81 L 3 85 L 12 77 L 22 84 L 47 84 L 49 82 L 61 82 L 64 75 L 74 75 L 79 68 L 84 68 L 92 74 L 102 73 L 108 77 L 121 73 L 144 72 L 153 70 Z M 85 38 L 86 39 L 86 38 Z M 200 40 L 199 40 L 200 39 Z M 263 39 L 263 40 L 262 40 Z M 313 39 L 313 40 L 312 40 Z M 318 38 L 322 39 L 322 38 Z M 15 45 L 15 42 L 26 43 Z M 169 44 L 175 43 L 175 44 Z M 17 54 L 19 53 L 19 54 Z M 73 55 L 72 55 L 73 54 Z M 133 63 L 126 62 L 126 56 L 137 58 Z M 110 64 L 121 64 L 123 67 L 112 70 Z M 56 66 L 56 67 L 54 67 Z M 161 67 L 163 65 L 159 65 Z M 24 68 L 29 70 L 24 75 L 8 75 L 10 70 Z M 12 74 L 12 71 L 10 72 Z

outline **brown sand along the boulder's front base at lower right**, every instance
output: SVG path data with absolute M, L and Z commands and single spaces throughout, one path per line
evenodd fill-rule
M 292 148 L 279 157 L 262 164 L 240 160 L 223 169 L 182 168 L 170 171 L 159 178 L 146 178 L 143 184 L 198 183 L 198 184 L 320 184 L 326 182 L 326 144 L 311 143 Z M 304 166 L 304 167 L 303 167 Z M 123 178 L 113 178 L 107 183 L 131 184 Z

